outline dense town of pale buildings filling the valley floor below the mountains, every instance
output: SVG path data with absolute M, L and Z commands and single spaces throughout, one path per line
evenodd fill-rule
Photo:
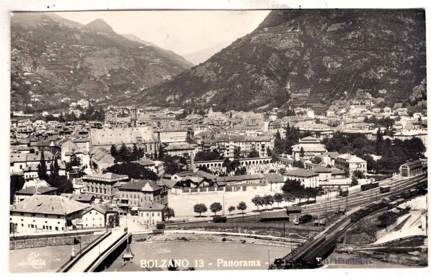
M 84 99 L 57 114 L 14 111 L 11 245 L 20 248 L 37 234 L 81 242 L 77 234 L 118 226 L 146 235 L 219 230 L 217 222 L 249 222 L 247 232 L 279 236 L 280 229 L 265 232 L 262 224 L 283 222 L 284 236 L 286 227 L 297 228 L 306 240 L 355 207 L 415 187 L 421 190 L 402 201 L 384 198 L 391 209 L 379 218 L 387 226 L 409 214 L 420 225 L 411 233 L 426 234 L 425 200 L 413 197 L 426 193 L 419 187 L 426 184 L 426 109 L 359 95 L 334 101 L 322 115 L 311 107 L 221 112 L 134 101 L 95 108 Z M 359 195 L 368 189 L 369 196 Z M 377 230 L 364 229 L 355 233 L 378 240 Z M 272 266 L 285 265 L 277 262 Z

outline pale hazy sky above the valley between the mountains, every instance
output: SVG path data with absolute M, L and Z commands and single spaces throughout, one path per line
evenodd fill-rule
M 145 10 L 57 12 L 87 24 L 101 18 L 117 33 L 131 33 L 184 55 L 253 31 L 269 10 Z

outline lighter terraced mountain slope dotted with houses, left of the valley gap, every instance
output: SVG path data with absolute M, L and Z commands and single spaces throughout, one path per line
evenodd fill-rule
M 172 51 L 117 34 L 102 19 L 84 25 L 43 12 L 16 12 L 11 18 L 14 109 L 58 108 L 67 105 L 60 101 L 67 97 L 124 95 L 191 66 Z

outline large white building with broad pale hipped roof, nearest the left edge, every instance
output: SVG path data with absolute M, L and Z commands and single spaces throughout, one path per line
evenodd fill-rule
M 65 230 L 66 221 L 80 218 L 87 206 L 63 196 L 35 194 L 11 205 L 10 222 L 16 232 Z

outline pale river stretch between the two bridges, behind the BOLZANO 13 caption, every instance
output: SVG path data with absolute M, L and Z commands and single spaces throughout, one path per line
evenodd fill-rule
M 130 248 L 135 255 L 132 259 L 133 268 L 140 268 L 142 262 L 144 267 L 161 267 L 163 270 L 166 270 L 171 259 L 180 263 L 178 269 L 268 269 L 268 261 L 272 262 L 274 258 L 282 257 L 290 251 L 287 246 L 200 241 L 132 243 Z M 123 254 L 124 252 L 105 271 L 125 270 L 122 266 Z

